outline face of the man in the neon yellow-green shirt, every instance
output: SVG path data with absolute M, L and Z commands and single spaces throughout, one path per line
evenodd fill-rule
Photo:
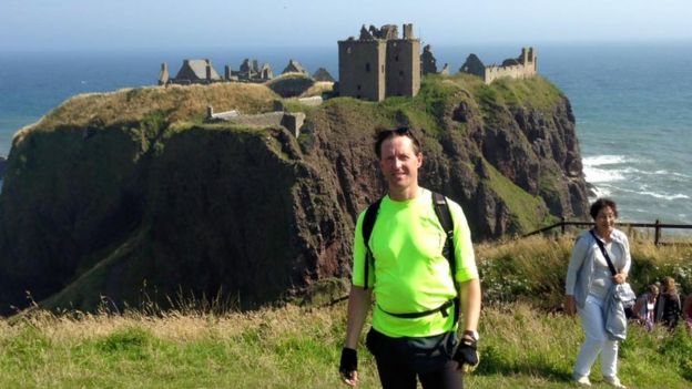
M 379 166 L 389 184 L 389 191 L 400 191 L 418 184 L 423 154 L 416 154 L 410 137 L 391 136 L 383 142 L 380 152 Z

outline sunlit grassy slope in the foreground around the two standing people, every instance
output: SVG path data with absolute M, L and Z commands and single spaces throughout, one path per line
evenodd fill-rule
M 477 247 L 484 288 L 523 280 L 505 301 L 487 301 L 480 320 L 481 365 L 467 388 L 563 388 L 582 331 L 577 319 L 538 309 L 533 298 L 561 297 L 569 238 L 531 238 Z M 639 285 L 688 269 L 692 248 L 633 243 Z M 493 265 L 490 267 L 489 264 Z M 686 267 L 685 267 L 686 266 Z M 495 269 L 495 272 L 491 270 Z M 655 269 L 659 270 L 655 270 Z M 655 272 L 662 272 L 661 274 Z M 554 281 L 550 279 L 558 278 Z M 692 274 L 679 275 L 690 290 Z M 510 283 L 511 284 L 511 283 Z M 521 291 L 522 290 L 522 291 Z M 488 296 L 488 295 L 487 295 Z M 510 298 L 513 297 L 513 298 Z M 522 301 L 520 301 L 522 300 Z M 533 301 L 533 303 L 531 303 Z M 345 332 L 345 304 L 265 308 L 254 313 L 53 316 L 35 311 L 0 321 L 0 387 L 334 388 Z M 156 315 L 153 315 L 156 314 Z M 692 336 L 631 327 L 620 375 L 631 388 L 692 386 Z M 372 357 L 360 348 L 363 388 L 377 388 Z M 600 382 L 598 365 L 592 373 Z

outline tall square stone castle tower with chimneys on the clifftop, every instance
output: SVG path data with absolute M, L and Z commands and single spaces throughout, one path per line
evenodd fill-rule
M 420 40 L 414 25 L 360 28 L 360 37 L 338 41 L 339 94 L 370 101 L 415 96 L 420 89 Z

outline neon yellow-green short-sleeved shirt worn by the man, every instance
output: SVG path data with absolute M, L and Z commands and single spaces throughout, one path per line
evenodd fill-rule
M 454 221 L 456 279 L 462 283 L 478 278 L 471 234 L 461 207 L 447 199 Z M 353 285 L 365 286 L 363 212 L 354 239 Z M 375 295 L 373 327 L 389 337 L 421 337 L 452 329 L 454 308 L 449 316 L 432 314 L 421 318 L 398 318 L 383 311 L 408 314 L 435 309 L 456 296 L 449 263 L 442 256 L 445 232 L 435 214 L 431 193 L 406 202 L 385 196 L 370 235 L 375 257 L 368 270 L 368 287 Z M 381 307 L 381 309 L 379 308 Z

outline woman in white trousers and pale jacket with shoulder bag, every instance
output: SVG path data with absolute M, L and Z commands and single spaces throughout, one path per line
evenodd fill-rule
M 618 207 L 612 199 L 597 199 L 591 205 L 590 214 L 596 226 L 577 238 L 567 270 L 566 311 L 569 315 L 579 311 L 586 334 L 572 379 L 579 385 L 591 386 L 589 375 L 600 354 L 604 382 L 615 388 L 625 388 L 618 378 L 618 340 L 611 339 L 606 330 L 604 305 L 611 286 L 627 280 L 632 262 L 630 245 L 627 235 L 615 229 Z M 627 326 L 624 311 L 622 321 L 620 325 Z

